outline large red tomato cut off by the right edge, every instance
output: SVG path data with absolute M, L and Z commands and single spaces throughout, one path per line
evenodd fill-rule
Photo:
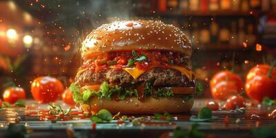
M 259 102 L 264 97 L 276 98 L 276 68 L 273 68 L 271 77 L 268 77 L 270 66 L 257 65 L 246 76 L 246 94 Z

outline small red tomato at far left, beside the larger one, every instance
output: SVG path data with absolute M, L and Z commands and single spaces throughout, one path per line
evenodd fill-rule
M 26 93 L 23 88 L 12 87 L 7 88 L 3 92 L 3 100 L 8 101 L 9 103 L 15 103 L 19 99 L 26 99 Z

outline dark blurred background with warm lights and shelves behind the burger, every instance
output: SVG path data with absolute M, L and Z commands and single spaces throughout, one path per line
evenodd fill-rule
M 218 70 L 235 69 L 244 78 L 257 63 L 276 57 L 276 0 L 0 1 L 1 92 L 14 83 L 30 97 L 30 83 L 44 75 L 68 86 L 86 35 L 124 19 L 181 28 L 193 43 L 193 70 L 206 87 Z

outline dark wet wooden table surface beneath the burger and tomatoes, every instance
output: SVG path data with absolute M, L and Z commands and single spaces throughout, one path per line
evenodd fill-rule
M 218 137 L 246 137 L 252 128 L 256 126 L 276 125 L 276 118 L 259 117 L 259 114 L 253 114 L 248 110 L 220 110 L 213 111 L 213 115 L 219 117 L 215 121 L 192 122 L 189 121 L 191 115 L 197 115 L 207 99 L 196 99 L 193 109 L 188 113 L 172 115 L 172 121 L 154 121 L 157 125 L 133 126 L 132 123 L 117 124 L 117 121 L 111 121 L 108 124 L 97 124 L 92 129 L 90 119 L 73 119 L 70 121 L 40 121 L 39 115 L 26 115 L 26 108 L 5 108 L 0 110 L 0 137 L 5 134 L 8 124 L 19 120 L 17 124 L 26 126 L 30 137 L 66 137 L 66 130 L 75 132 L 75 137 L 170 137 L 172 130 L 176 127 L 187 130 L 192 124 L 199 124 L 199 130 Z M 57 101 L 63 108 L 68 108 L 65 103 Z M 39 105 L 37 102 L 29 100 L 28 106 L 36 107 L 34 112 L 46 109 L 48 105 Z M 275 108 L 275 107 L 273 107 Z M 272 109 L 273 109 L 272 108 Z M 261 112 L 263 108 L 254 107 L 253 110 Z M 263 112 L 263 111 L 262 111 Z M 229 121 L 227 121 L 227 117 Z M 152 118 L 145 115 L 146 118 Z

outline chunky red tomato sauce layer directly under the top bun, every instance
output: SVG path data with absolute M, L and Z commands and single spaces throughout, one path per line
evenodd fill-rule
M 147 70 L 151 66 L 187 66 L 188 57 L 179 53 L 168 50 L 141 50 L 136 51 L 137 57 L 142 55 L 146 56 L 146 60 L 135 61 L 135 65 L 139 69 Z M 107 52 L 101 55 L 95 55 L 94 57 L 86 60 L 83 66 L 79 70 L 86 69 L 92 72 L 99 72 L 100 70 L 107 70 L 110 66 L 108 61 L 117 61 L 112 65 L 115 69 L 126 67 L 129 59 L 135 59 L 132 55 L 132 51 L 118 51 Z

